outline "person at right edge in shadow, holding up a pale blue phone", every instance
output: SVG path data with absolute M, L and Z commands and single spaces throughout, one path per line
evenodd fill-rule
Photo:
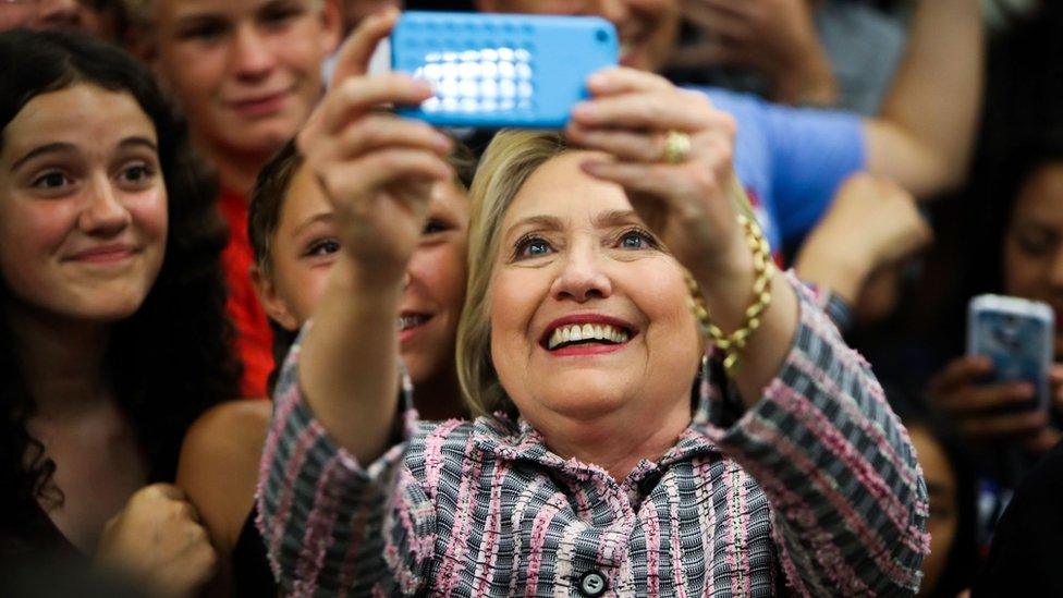
M 964 247 L 966 292 L 963 303 L 948 312 L 966 314 L 966 302 L 980 293 L 1012 295 L 1047 303 L 1055 313 L 1056 330 L 1046 410 L 1028 408 L 1033 385 L 987 383 L 992 364 L 973 356 L 954 357 L 927 387 L 975 454 L 983 549 L 1014 489 L 1063 438 L 1063 141 L 1051 135 L 1016 139 L 991 172 L 982 204 L 987 207 L 976 211 L 969 228 L 974 237 L 986 241 Z M 954 328 L 964 330 L 962 325 Z M 964 338 L 955 335 L 957 341 Z

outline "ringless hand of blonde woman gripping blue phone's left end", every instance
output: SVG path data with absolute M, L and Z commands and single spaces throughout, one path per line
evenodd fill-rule
M 343 251 L 368 285 L 402 280 L 431 187 L 451 175 L 449 137 L 386 111 L 429 98 L 428 84 L 399 73 L 366 74 L 396 17 L 395 11 L 367 17 L 352 34 L 340 50 L 335 84 L 296 141 L 335 210 Z

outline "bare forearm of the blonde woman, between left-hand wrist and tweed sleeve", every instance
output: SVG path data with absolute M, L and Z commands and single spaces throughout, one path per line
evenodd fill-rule
M 303 341 L 298 377 L 306 403 L 363 464 L 393 438 L 399 396 L 395 316 L 401 281 L 369 285 L 341 255 Z

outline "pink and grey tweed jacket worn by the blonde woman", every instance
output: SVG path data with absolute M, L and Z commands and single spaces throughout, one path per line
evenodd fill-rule
M 296 596 L 905 595 L 927 493 L 868 364 L 802 296 L 779 376 L 728 425 L 722 395 L 623 481 L 553 454 L 523 420 L 414 422 L 363 466 L 295 383 L 277 393 L 258 493 Z

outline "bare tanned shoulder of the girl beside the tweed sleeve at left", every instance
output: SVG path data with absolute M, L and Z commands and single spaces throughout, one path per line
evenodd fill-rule
M 176 484 L 215 541 L 230 548 L 254 502 L 271 411 L 258 399 L 222 403 L 192 425 L 181 447 Z

